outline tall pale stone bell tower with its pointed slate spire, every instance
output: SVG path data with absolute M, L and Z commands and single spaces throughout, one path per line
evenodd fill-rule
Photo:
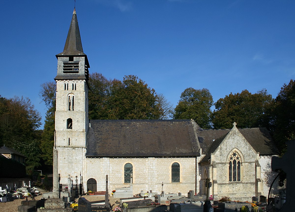
M 58 60 L 56 81 L 55 149 L 60 183 L 84 169 L 88 119 L 89 63 L 84 54 L 76 9 Z

